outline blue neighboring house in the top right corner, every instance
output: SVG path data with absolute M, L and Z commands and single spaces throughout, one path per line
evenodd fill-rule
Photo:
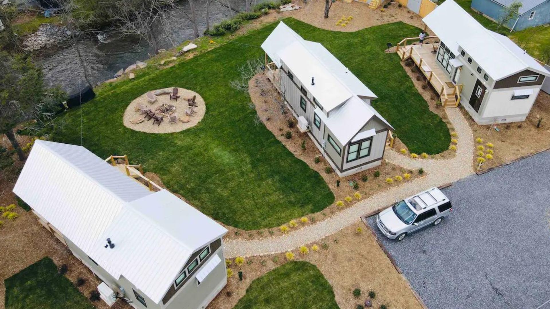
M 550 23 L 550 0 L 472 0 L 471 7 L 488 18 L 499 20 L 505 8 L 514 1 L 523 6 L 519 9 L 519 16 L 505 24 L 509 29 L 519 31 Z

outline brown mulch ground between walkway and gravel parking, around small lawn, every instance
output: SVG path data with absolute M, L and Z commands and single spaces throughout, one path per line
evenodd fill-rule
M 357 228 L 361 228 L 360 234 L 357 234 Z M 316 245 L 319 251 L 313 252 L 312 245 L 309 245 L 307 255 L 294 250 L 295 260 L 313 263 L 320 269 L 332 285 L 340 308 L 355 308 L 363 304 L 369 290 L 376 293 L 373 308 L 381 304 L 388 308 L 422 308 L 406 280 L 395 270 L 371 231 L 362 222 L 323 238 Z M 252 280 L 286 261 L 284 253 L 280 253 L 246 258 L 240 267 L 230 265 L 234 271 L 233 277 L 228 279 L 227 286 L 208 308 L 233 308 L 244 296 Z M 243 272 L 243 281 L 239 281 L 239 271 Z M 353 296 L 356 288 L 361 289 L 361 296 L 357 298 Z

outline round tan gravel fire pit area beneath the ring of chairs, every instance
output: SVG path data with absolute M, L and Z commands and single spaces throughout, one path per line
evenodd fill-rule
M 165 88 L 163 90 L 171 92 L 172 88 Z M 205 101 L 202 100 L 199 93 L 183 88 L 178 88 L 178 95 L 180 96 L 178 100 L 171 100 L 169 94 L 158 95 L 154 103 L 150 103 L 149 100 L 147 100 L 147 93 L 135 98 L 135 100 L 128 105 L 126 111 L 124 111 L 124 126 L 132 130 L 147 133 L 175 133 L 197 125 L 206 113 Z M 196 102 L 193 108 L 194 114 L 186 116 L 186 110 L 189 108 L 187 99 L 193 97 L 195 97 Z M 175 114 L 177 117 L 175 123 L 169 122 L 168 114 L 161 115 L 158 113 L 157 109 L 161 107 L 162 104 L 169 104 L 175 108 L 172 113 L 172 115 Z M 140 106 L 146 106 L 153 113 L 163 116 L 163 122 L 160 125 L 153 124 L 153 119 L 149 119 L 145 114 L 140 112 Z M 184 120 L 185 122 L 183 122 Z

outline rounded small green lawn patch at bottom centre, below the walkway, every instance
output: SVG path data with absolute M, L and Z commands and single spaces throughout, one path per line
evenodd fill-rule
M 233 309 L 339 309 L 327 279 L 309 262 L 288 262 L 254 280 Z

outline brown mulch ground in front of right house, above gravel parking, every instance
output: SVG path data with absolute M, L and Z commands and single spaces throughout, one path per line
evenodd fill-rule
M 485 170 L 550 147 L 550 95 L 546 92 L 538 93 L 535 104 L 525 121 L 497 124 L 495 126 L 499 131 L 496 131 L 491 125 L 476 124 L 464 108 L 460 110 L 472 128 L 475 147 L 483 146 L 483 150 L 476 148 L 474 151 L 475 156 L 472 158 L 472 164 L 474 164 L 475 170 L 480 170 L 477 169 L 477 158 L 480 157 L 477 154 L 478 151 L 481 151 L 485 157 L 485 162 L 481 165 L 481 170 Z M 537 128 L 540 118 L 542 118 L 541 125 L 540 128 Z M 478 137 L 482 139 L 482 142 L 476 141 Z M 493 147 L 487 147 L 487 143 L 493 144 Z M 493 151 L 493 159 L 486 158 L 489 150 Z

